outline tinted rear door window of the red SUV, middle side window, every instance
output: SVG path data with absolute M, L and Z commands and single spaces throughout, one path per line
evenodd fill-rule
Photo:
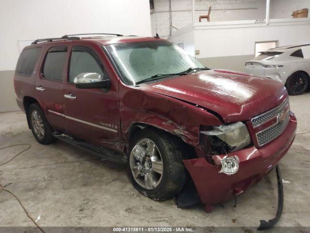
M 43 67 L 43 76 L 48 79 L 62 80 L 67 47 L 52 47 L 47 51 Z

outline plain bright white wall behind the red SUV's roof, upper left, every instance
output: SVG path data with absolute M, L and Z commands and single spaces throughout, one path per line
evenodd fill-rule
M 18 40 L 73 33 L 151 35 L 148 0 L 0 0 L 0 70 L 13 70 Z

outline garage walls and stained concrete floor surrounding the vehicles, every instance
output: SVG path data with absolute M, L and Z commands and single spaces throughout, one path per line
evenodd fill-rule
M 232 199 L 206 213 L 202 204 L 180 209 L 173 199 L 155 201 L 141 195 L 129 182 L 124 165 L 61 141 L 39 144 L 16 104 L 13 77 L 20 52 L 35 39 L 92 32 L 141 36 L 158 33 L 206 67 L 245 72 L 245 63 L 260 50 L 310 44 L 309 14 L 294 13 L 309 9 L 309 0 L 0 3 L 0 148 L 4 148 L 0 150 L 0 184 L 18 197 L 39 226 L 186 226 L 212 227 L 212 231 L 208 228 L 211 232 L 227 230 L 220 227 L 237 227 L 232 229 L 249 233 L 255 232 L 259 220 L 275 216 L 275 169 L 239 195 L 236 207 Z M 209 22 L 206 18 L 199 22 L 200 16 L 208 15 L 209 6 Z M 310 59 L 308 63 L 310 66 Z M 301 95 L 289 96 L 289 100 L 297 130 L 292 147 L 279 162 L 284 187 L 284 209 L 277 223 L 277 227 L 283 227 L 281 231 L 310 227 L 309 88 Z M 25 150 L 28 145 L 31 147 Z M 17 200 L 0 192 L 0 231 L 5 227 L 33 226 Z

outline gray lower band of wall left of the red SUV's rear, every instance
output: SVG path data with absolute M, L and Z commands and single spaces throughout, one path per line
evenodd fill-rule
M 0 112 L 11 112 L 19 110 L 16 104 L 13 77 L 14 70 L 0 71 Z

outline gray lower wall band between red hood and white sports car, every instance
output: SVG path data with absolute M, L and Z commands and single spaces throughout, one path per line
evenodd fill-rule
M 241 55 L 241 56 L 226 56 L 226 57 L 205 57 L 198 58 L 197 60 L 202 65 L 209 68 L 229 69 L 240 72 L 245 72 L 245 62 L 253 59 L 253 55 Z

